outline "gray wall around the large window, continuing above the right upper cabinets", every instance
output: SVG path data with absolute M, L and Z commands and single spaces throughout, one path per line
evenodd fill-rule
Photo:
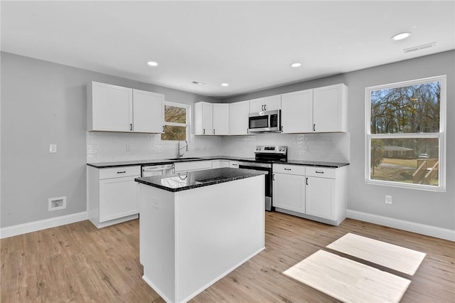
M 365 87 L 447 75 L 446 192 L 421 191 L 365 184 Z M 236 102 L 336 83 L 349 87 L 350 167 L 348 209 L 413 223 L 455 230 L 455 50 L 399 63 L 381 65 L 333 77 L 231 97 Z M 241 149 L 242 138 L 229 139 Z M 392 196 L 392 205 L 384 203 Z

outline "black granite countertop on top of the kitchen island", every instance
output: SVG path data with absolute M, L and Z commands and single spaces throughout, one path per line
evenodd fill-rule
M 171 174 L 166 176 L 149 176 L 136 178 L 141 184 L 154 186 L 165 191 L 186 191 L 191 188 L 210 186 L 234 180 L 261 176 L 267 171 L 255 171 L 252 169 L 206 169 L 204 171 L 188 171 L 186 173 Z

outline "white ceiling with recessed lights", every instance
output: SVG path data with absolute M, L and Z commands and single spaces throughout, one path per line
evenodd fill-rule
M 455 1 L 1 1 L 5 52 L 213 97 L 452 49 Z

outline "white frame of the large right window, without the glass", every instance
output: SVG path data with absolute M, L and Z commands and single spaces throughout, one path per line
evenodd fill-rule
M 406 87 L 422 83 L 439 82 L 441 83 L 441 95 L 439 100 L 439 132 L 432 133 L 397 133 L 397 134 L 371 134 L 371 92 L 375 90 L 384 90 L 397 87 Z M 419 189 L 425 191 L 446 191 L 446 75 L 439 75 L 429 78 L 416 80 L 406 80 L 398 83 L 385 85 L 375 85 L 365 87 L 365 183 L 392 186 L 400 188 Z M 439 141 L 439 186 L 426 184 L 407 184 L 398 181 L 384 181 L 370 179 L 370 146 L 372 139 L 425 139 L 434 138 Z

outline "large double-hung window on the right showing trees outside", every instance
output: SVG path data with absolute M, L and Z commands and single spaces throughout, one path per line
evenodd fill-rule
M 445 190 L 446 76 L 367 87 L 368 184 Z

